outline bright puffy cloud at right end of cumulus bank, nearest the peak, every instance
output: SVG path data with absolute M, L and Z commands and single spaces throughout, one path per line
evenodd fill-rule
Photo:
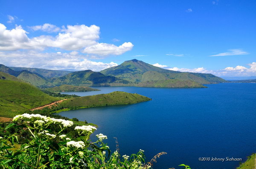
M 86 54 L 98 54 L 102 56 L 106 55 L 121 55 L 133 48 L 131 42 L 125 42 L 120 46 L 107 44 L 107 43 L 97 43 L 96 45 L 89 46 L 85 48 L 82 52 Z

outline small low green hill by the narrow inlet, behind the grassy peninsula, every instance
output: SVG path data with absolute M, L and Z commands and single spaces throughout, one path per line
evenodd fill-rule
M 52 92 L 89 92 L 89 91 L 99 91 L 98 89 L 93 89 L 90 87 L 85 87 L 85 86 L 72 86 L 72 85 L 61 85 L 57 87 L 52 87 L 52 88 L 47 88 L 44 89 L 47 91 L 52 91 Z

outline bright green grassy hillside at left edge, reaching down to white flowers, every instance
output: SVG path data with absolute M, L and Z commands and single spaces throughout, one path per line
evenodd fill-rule
M 26 82 L 0 80 L 0 116 L 13 117 L 57 100 L 60 98 L 49 96 Z

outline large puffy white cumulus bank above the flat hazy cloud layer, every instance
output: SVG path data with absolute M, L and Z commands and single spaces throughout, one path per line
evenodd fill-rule
M 44 24 L 32 27 L 35 30 L 57 31 L 55 25 Z M 20 49 L 60 48 L 67 51 L 80 50 L 87 54 L 99 56 L 120 55 L 133 48 L 131 42 L 125 42 L 120 46 L 107 43 L 99 43 L 99 26 L 91 25 L 67 25 L 61 29 L 55 37 L 41 35 L 39 37 L 27 37 L 28 32 L 21 26 L 8 30 L 5 25 L 0 24 L 0 50 L 17 51 Z

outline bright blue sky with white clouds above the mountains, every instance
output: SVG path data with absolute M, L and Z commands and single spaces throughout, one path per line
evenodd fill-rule
M 131 59 L 256 76 L 255 0 L 0 0 L 0 64 L 93 70 Z

